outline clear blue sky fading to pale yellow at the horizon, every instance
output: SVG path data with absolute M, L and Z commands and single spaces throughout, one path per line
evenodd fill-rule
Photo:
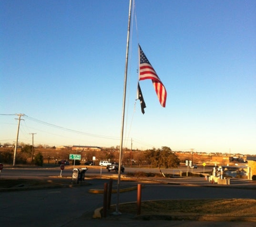
M 1 144 L 16 140 L 17 116 L 6 114 L 24 113 L 20 142 L 37 133 L 35 145 L 120 145 L 128 8 L 0 2 Z M 123 145 L 256 154 L 256 1 L 136 0 L 135 11 Z M 168 93 L 162 108 L 141 81 L 144 115 L 138 42 Z

